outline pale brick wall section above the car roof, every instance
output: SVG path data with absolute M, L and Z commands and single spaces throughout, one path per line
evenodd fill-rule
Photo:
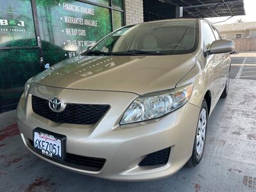
M 143 22 L 143 0 L 125 0 L 126 25 Z

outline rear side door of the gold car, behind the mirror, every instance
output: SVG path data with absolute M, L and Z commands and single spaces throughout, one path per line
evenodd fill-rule
M 218 33 L 217 29 L 214 26 L 212 27 L 212 31 L 215 35 L 216 40 L 220 40 L 221 36 L 220 33 Z M 231 58 L 230 58 L 230 53 L 229 52 L 224 52 L 221 53 L 221 68 L 220 68 L 220 81 L 221 81 L 221 90 L 223 90 L 223 88 L 226 85 L 227 82 L 227 78 L 228 78 L 228 74 L 229 74 L 229 68 L 230 68 L 230 62 L 231 62 Z

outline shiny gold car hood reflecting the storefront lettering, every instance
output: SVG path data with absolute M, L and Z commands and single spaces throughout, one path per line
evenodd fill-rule
M 79 90 L 139 95 L 174 88 L 195 65 L 193 54 L 168 56 L 77 56 L 33 78 L 34 83 Z

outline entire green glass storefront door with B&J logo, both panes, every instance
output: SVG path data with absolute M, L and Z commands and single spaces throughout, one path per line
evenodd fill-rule
M 15 108 L 27 79 L 40 72 L 30 0 L 0 0 L 0 111 Z

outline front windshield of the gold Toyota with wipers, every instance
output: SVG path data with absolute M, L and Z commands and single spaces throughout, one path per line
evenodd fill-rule
M 106 36 L 84 54 L 185 54 L 196 49 L 196 23 L 195 20 L 175 20 L 127 26 Z

